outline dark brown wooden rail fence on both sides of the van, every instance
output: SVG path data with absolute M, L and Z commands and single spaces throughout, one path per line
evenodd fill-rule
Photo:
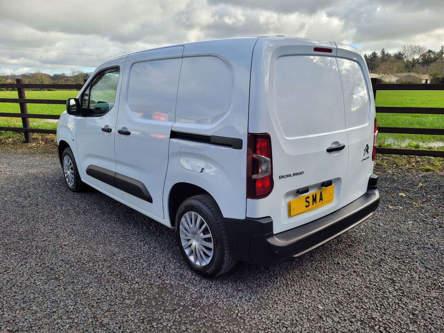
M 379 84 L 372 79 L 373 95 L 376 98 L 378 90 L 444 90 L 444 84 Z M 65 104 L 66 100 L 61 99 L 26 99 L 24 90 L 34 89 L 77 89 L 80 90 L 83 84 L 25 84 L 21 79 L 16 79 L 16 83 L 0 84 L 0 88 L 17 88 L 18 99 L 0 98 L 0 103 L 19 103 L 20 113 L 0 112 L 0 117 L 17 117 L 22 119 L 23 127 L 0 127 L 0 131 L 24 132 L 25 142 L 32 141 L 31 133 L 56 134 L 56 130 L 31 128 L 29 118 L 39 119 L 59 119 L 59 115 L 38 115 L 29 114 L 27 103 L 40 104 Z M 442 107 L 376 107 L 377 113 L 416 113 L 427 115 L 444 115 Z M 428 134 L 444 135 L 443 128 L 417 128 L 417 127 L 378 127 L 379 133 L 396 134 Z M 378 154 L 394 155 L 415 155 L 443 157 L 444 151 L 434 151 L 425 149 L 404 149 L 404 148 L 382 148 L 377 147 Z

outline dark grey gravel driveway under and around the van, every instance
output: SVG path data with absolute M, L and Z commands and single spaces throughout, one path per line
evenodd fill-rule
M 56 154 L 0 147 L 0 332 L 443 332 L 444 176 L 377 172 L 360 226 L 207 280 L 170 229 L 69 191 Z

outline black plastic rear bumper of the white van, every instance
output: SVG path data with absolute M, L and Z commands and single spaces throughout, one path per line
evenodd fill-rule
M 230 245 L 239 260 L 263 266 L 277 265 L 290 257 L 313 250 L 366 218 L 379 205 L 377 176 L 370 178 L 367 192 L 347 206 L 302 226 L 273 233 L 273 220 L 268 218 L 226 218 Z

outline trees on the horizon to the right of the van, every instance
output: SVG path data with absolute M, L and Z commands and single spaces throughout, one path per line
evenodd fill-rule
M 370 73 L 389 75 L 403 72 L 430 75 L 431 83 L 444 83 L 444 45 L 439 51 L 427 50 L 422 45 L 404 45 L 398 52 L 364 54 Z

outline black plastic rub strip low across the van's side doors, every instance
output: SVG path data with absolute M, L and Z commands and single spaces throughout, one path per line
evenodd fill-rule
M 134 195 L 137 198 L 153 203 L 153 198 L 147 187 L 137 179 L 118 174 L 114 171 L 102 168 L 96 165 L 90 165 L 86 168 L 86 174 L 104 182 L 108 185 L 118 188 L 123 192 Z

